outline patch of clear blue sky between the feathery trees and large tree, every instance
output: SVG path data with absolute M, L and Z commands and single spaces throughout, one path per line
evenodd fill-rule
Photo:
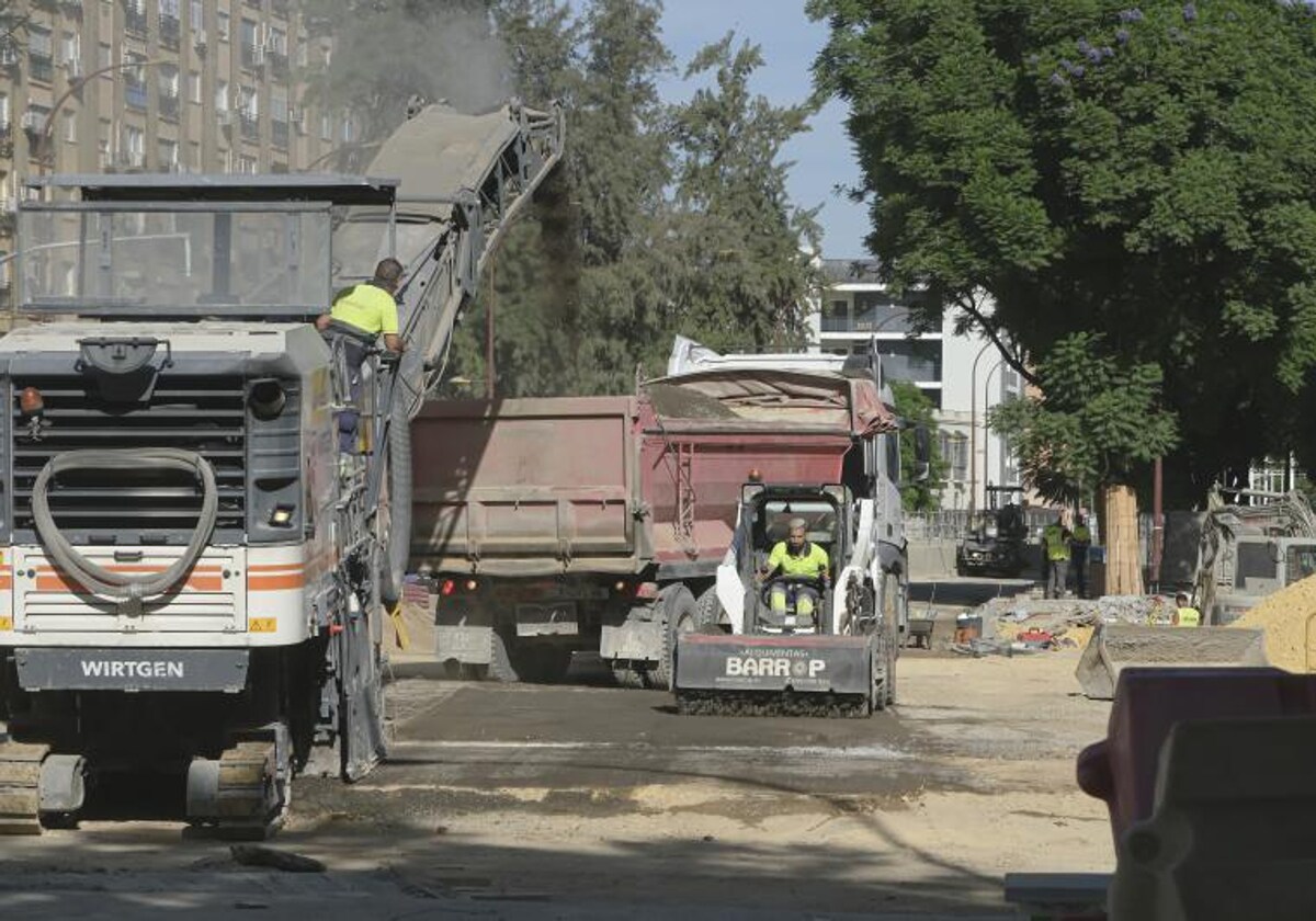
M 678 74 L 661 86 L 669 101 L 694 91 L 679 79 L 686 64 L 704 45 L 728 32 L 763 50 L 763 67 L 755 74 L 755 92 L 774 103 L 794 104 L 812 89 L 809 67 L 826 41 L 826 28 L 804 14 L 804 0 L 665 0 L 663 39 L 676 58 Z M 784 158 L 791 170 L 791 197 L 800 207 L 822 205 L 822 255 L 845 259 L 865 254 L 867 211 L 833 192 L 837 184 L 853 184 L 859 167 L 845 134 L 845 109 L 829 103 L 812 120 L 813 130 L 791 142 Z

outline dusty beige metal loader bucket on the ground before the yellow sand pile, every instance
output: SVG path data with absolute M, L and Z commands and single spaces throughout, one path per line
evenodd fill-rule
M 1134 626 L 1101 624 L 1083 650 L 1075 672 L 1083 695 L 1113 700 L 1120 672 L 1129 666 L 1265 666 L 1261 630 L 1223 626 Z

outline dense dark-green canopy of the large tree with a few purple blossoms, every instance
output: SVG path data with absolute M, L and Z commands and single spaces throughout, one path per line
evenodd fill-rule
M 1165 368 L 1184 441 L 1171 491 L 1200 499 L 1224 468 L 1295 445 L 1316 457 L 1309 4 L 809 9 L 830 25 L 815 72 L 849 104 L 869 245 L 894 287 L 1008 334 L 1025 371 L 1098 333 L 1120 367 Z

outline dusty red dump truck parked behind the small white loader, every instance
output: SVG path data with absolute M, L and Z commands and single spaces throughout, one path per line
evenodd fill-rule
M 670 688 L 678 637 L 730 628 L 715 582 L 750 479 L 880 503 L 875 557 L 907 622 L 899 430 L 875 366 L 754 358 L 630 396 L 425 407 L 411 555 L 450 674 L 557 680 L 596 651 L 620 683 Z

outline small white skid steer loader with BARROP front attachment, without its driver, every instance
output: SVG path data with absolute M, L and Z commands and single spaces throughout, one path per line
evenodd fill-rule
M 758 574 L 787 522 L 828 551 L 830 584 L 805 616 L 774 610 Z M 874 539 L 874 503 L 842 485 L 742 487 L 736 538 L 717 570 L 717 609 L 676 643 L 682 713 L 863 717 L 895 703 L 904 568 Z M 775 580 L 774 580 L 775 582 Z

